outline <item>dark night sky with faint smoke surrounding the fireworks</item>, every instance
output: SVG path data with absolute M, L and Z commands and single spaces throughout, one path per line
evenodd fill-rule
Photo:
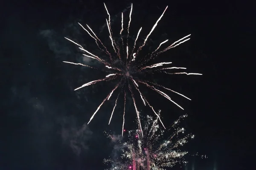
M 121 12 L 128 16 L 130 2 L 105 3 L 113 27 L 119 29 Z M 142 26 L 142 35 L 147 35 L 166 5 L 169 8 L 150 37 L 152 47 L 166 39 L 174 42 L 187 34 L 192 36 L 189 42 L 168 51 L 157 61 L 172 61 L 175 66 L 187 67 L 188 72 L 203 76 L 154 78 L 192 99 L 171 94 L 184 111 L 150 90 L 143 91 L 154 108 L 162 110 L 166 125 L 187 113 L 186 129 L 196 137 L 186 150 L 208 156 L 207 159 L 189 157 L 189 164 L 173 169 L 251 169 L 253 163 L 249 160 L 253 153 L 249 144 L 253 139 L 250 132 L 253 120 L 248 116 L 250 112 L 240 109 L 239 101 L 244 94 L 238 88 L 241 79 L 237 64 L 244 63 L 241 48 L 245 45 L 241 39 L 249 37 L 253 23 L 246 16 L 253 13 L 234 1 L 142 0 L 134 3 L 130 34 L 137 35 Z M 108 40 L 105 25 L 108 15 L 103 2 L 10 1 L 2 7 L 0 169 L 103 170 L 106 165 L 102 160 L 111 155 L 113 147 L 103 131 L 121 133 L 122 107 L 117 108 L 108 126 L 113 98 L 88 126 L 82 127 L 113 84 L 99 83 L 73 91 L 85 82 L 104 77 L 105 73 L 62 62 L 84 62 L 101 68 L 98 62 L 83 58 L 64 37 L 97 53 L 94 41 L 77 22 L 89 24 L 103 41 Z M 128 20 L 125 21 L 127 24 Z M 135 128 L 136 116 L 130 100 L 127 129 Z M 142 114 L 151 114 L 140 102 L 138 108 Z

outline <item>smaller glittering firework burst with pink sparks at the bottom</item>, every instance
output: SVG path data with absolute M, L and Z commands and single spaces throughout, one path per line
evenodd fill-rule
M 171 128 L 164 130 L 159 126 L 158 118 L 146 116 L 144 137 L 140 129 L 131 130 L 127 132 L 128 142 L 122 142 L 122 139 L 107 134 L 114 143 L 119 144 L 121 156 L 118 156 L 119 159 L 104 159 L 104 163 L 112 164 L 109 170 L 165 170 L 177 163 L 186 164 L 184 156 L 188 152 L 181 151 L 180 147 L 187 143 L 188 139 L 195 137 L 192 134 L 185 135 L 185 129 L 179 127 L 180 121 L 186 117 L 187 115 L 180 116 Z M 163 140 L 167 135 L 167 140 Z

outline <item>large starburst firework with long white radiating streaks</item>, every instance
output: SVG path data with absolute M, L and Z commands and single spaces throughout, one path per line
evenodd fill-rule
M 105 3 L 104 3 L 105 6 Z M 120 32 L 119 32 L 119 36 L 122 39 L 122 43 L 118 43 L 115 41 L 115 39 L 113 38 L 113 32 L 111 29 L 111 16 L 108 12 L 107 7 L 105 6 L 105 9 L 107 11 L 108 14 L 108 19 L 106 19 L 106 23 L 108 26 L 108 32 L 109 32 L 109 38 L 111 41 L 111 45 L 112 45 L 112 49 L 107 49 L 106 46 L 102 43 L 102 41 L 96 36 L 96 34 L 93 32 L 93 30 L 86 25 L 87 27 L 82 26 L 80 23 L 79 25 L 89 34 L 89 36 L 95 40 L 96 45 L 98 46 L 98 48 L 100 50 L 103 51 L 103 53 L 105 53 L 103 56 L 108 56 L 109 59 L 103 59 L 104 57 L 99 57 L 94 55 L 93 53 L 87 51 L 86 49 L 84 49 L 80 44 L 78 44 L 77 42 L 74 42 L 73 40 L 70 40 L 68 38 L 66 38 L 67 40 L 73 42 L 74 44 L 79 46 L 79 49 L 84 52 L 84 56 L 85 57 L 90 57 L 92 59 L 96 59 L 99 62 L 101 62 L 102 64 L 105 65 L 106 69 L 109 69 L 108 72 L 110 72 L 111 74 L 105 75 L 104 78 L 102 79 L 97 79 L 97 80 L 93 80 L 91 82 L 87 82 L 84 85 L 81 85 L 80 87 L 76 88 L 76 90 L 79 90 L 80 88 L 89 86 L 89 85 L 94 85 L 98 82 L 103 82 L 103 81 L 110 81 L 113 79 L 120 79 L 118 81 L 118 83 L 116 84 L 116 86 L 113 88 L 113 90 L 110 91 L 110 93 L 108 94 L 108 96 L 106 96 L 106 98 L 103 100 L 103 102 L 99 105 L 99 107 L 96 109 L 96 111 L 93 113 L 93 115 L 90 118 L 90 121 L 93 119 L 93 117 L 96 115 L 96 113 L 99 111 L 99 109 L 101 108 L 101 106 L 111 98 L 112 94 L 114 91 L 116 91 L 117 88 L 121 87 L 121 91 L 124 91 L 123 87 L 126 85 L 126 87 L 128 87 L 128 92 L 131 93 L 133 102 L 134 102 L 134 108 L 135 111 L 137 113 L 137 120 L 139 122 L 139 126 L 140 126 L 140 130 L 141 130 L 141 134 L 143 136 L 142 133 L 142 126 L 140 124 L 140 112 L 137 109 L 137 105 L 136 105 L 136 101 L 134 98 L 134 92 L 132 91 L 132 87 L 134 86 L 134 88 L 136 89 L 136 91 L 140 94 L 140 98 L 143 101 L 144 105 L 148 105 L 152 111 L 154 112 L 154 114 L 159 118 L 158 114 L 154 111 L 154 108 L 148 103 L 147 99 L 145 99 L 145 96 L 141 93 L 139 86 L 140 85 L 145 85 L 148 88 L 150 88 L 151 90 L 157 92 L 158 94 L 162 95 L 163 97 L 165 97 L 166 99 L 168 99 L 169 101 L 173 102 L 175 105 L 177 105 L 179 108 L 183 109 L 180 105 L 178 105 L 176 102 L 174 102 L 166 93 L 164 93 L 163 91 L 159 90 L 159 88 L 163 88 L 167 91 L 171 91 L 173 93 L 176 93 L 180 96 L 185 97 L 186 99 L 189 99 L 188 97 L 184 96 L 183 94 L 180 94 L 176 91 L 173 91 L 172 89 L 163 87 L 162 85 L 150 82 L 150 81 L 146 81 L 143 79 L 139 79 L 137 77 L 133 77 L 133 75 L 138 74 L 138 73 L 145 73 L 145 74 L 152 74 L 154 72 L 160 72 L 160 73 L 164 73 L 164 74 L 187 74 L 187 75 L 202 75 L 202 74 L 198 74 L 198 73 L 186 73 L 186 72 L 168 72 L 168 71 L 172 71 L 172 70 L 184 70 L 186 68 L 183 67 L 165 67 L 163 68 L 163 66 L 165 65 L 169 65 L 172 62 L 160 62 L 160 63 L 156 63 L 153 65 L 147 65 L 147 63 L 149 61 L 151 61 L 152 59 L 156 58 L 159 54 L 171 49 L 171 48 L 175 48 L 177 45 L 180 45 L 183 42 L 186 42 L 187 40 L 189 40 L 189 35 L 181 38 L 180 40 L 177 40 L 176 42 L 173 42 L 171 45 L 167 45 L 167 47 L 161 48 L 162 45 L 164 45 L 166 42 L 168 42 L 168 40 L 165 40 L 163 42 L 160 43 L 160 45 L 152 52 L 149 52 L 148 55 L 145 55 L 144 57 L 141 57 L 141 59 L 137 59 L 137 56 L 140 56 L 140 51 L 142 50 L 142 48 L 145 46 L 148 37 L 150 37 L 151 33 L 154 31 L 154 29 L 157 26 L 157 23 L 161 20 L 161 18 L 163 17 L 163 14 L 165 13 L 166 9 L 168 8 L 168 6 L 166 6 L 165 10 L 163 11 L 163 13 L 161 14 L 161 16 L 159 17 L 159 19 L 157 20 L 157 22 L 154 24 L 153 28 L 151 29 L 151 31 L 148 33 L 148 35 L 146 36 L 145 40 L 143 41 L 142 45 L 137 47 L 137 40 L 138 37 L 140 35 L 140 32 L 142 31 L 142 28 L 139 29 L 138 33 L 137 33 L 137 37 L 136 40 L 134 41 L 134 45 L 130 48 L 128 46 L 128 37 L 129 37 L 129 27 L 131 24 L 131 14 L 132 14 L 132 9 L 133 6 L 131 4 L 131 11 L 129 14 L 129 22 L 128 22 L 128 26 L 127 26 L 127 34 L 124 34 L 124 17 L 123 17 L 123 13 L 122 13 L 122 20 L 120 21 L 121 23 L 121 28 L 120 28 Z M 125 41 L 126 40 L 126 44 Z M 120 65 L 116 65 L 116 59 L 119 60 Z M 67 61 L 63 61 L 65 63 L 69 63 L 69 64 L 73 64 L 73 65 L 81 65 L 84 67 L 89 67 L 89 68 L 93 68 L 92 66 L 89 65 L 84 65 L 82 63 L 74 63 L 74 62 L 67 62 Z M 119 94 L 121 94 L 121 91 L 119 92 Z M 124 94 L 124 99 L 126 97 L 126 91 L 123 92 Z M 116 97 L 115 100 L 115 105 L 113 107 L 113 111 L 111 113 L 110 116 L 110 120 L 109 123 L 111 122 L 111 118 L 113 116 L 113 112 L 116 108 L 116 104 L 117 104 L 117 100 L 119 98 L 119 95 Z M 191 99 L 189 99 L 191 100 Z M 88 122 L 88 124 L 90 123 L 90 121 Z M 160 123 L 163 125 L 162 121 L 160 120 Z M 124 105 L 124 112 L 123 112 L 123 124 L 122 124 L 122 132 L 124 130 L 124 124 L 125 124 L 125 105 Z M 164 125 L 163 125 L 164 127 Z M 164 127 L 165 128 L 165 127 Z M 122 133 L 123 134 L 123 133 Z

